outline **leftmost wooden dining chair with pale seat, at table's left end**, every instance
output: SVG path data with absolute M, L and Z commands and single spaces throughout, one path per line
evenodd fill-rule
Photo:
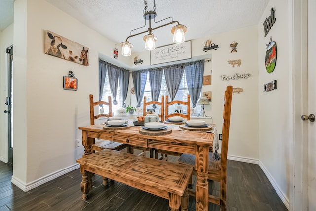
M 95 125 L 94 120 L 99 119 L 100 117 L 112 117 L 112 100 L 111 96 L 108 98 L 108 102 L 105 101 L 93 101 L 93 94 L 90 94 L 90 124 Z M 100 113 L 94 114 L 94 107 L 99 105 L 105 105 L 109 108 L 109 113 Z M 103 149 L 113 149 L 113 150 L 122 150 L 127 148 L 127 152 L 130 153 L 130 145 L 118 143 L 110 140 L 96 139 L 95 143 L 92 145 L 92 152 L 101 151 Z

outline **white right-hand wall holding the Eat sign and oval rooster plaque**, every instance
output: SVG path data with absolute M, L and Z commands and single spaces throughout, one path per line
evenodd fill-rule
M 264 37 L 263 23 L 270 16 L 270 9 L 275 9 L 276 22 Z M 292 172 L 291 146 L 293 143 L 293 82 L 290 65 L 289 36 L 291 15 L 288 1 L 271 0 L 258 24 L 259 34 L 259 160 L 260 166 L 275 185 L 276 191 L 288 206 L 290 191 L 290 176 Z M 270 40 L 276 42 L 276 67 L 272 73 L 267 73 L 265 63 L 266 44 Z M 277 80 L 277 89 L 263 92 L 263 85 Z

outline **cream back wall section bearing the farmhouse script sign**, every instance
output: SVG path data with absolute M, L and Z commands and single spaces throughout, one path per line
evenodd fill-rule
M 242 88 L 240 94 L 232 97 L 231 127 L 229 138 L 229 159 L 258 162 L 258 34 L 257 27 L 216 34 L 205 38 L 219 45 L 212 52 L 212 110 L 218 131 L 222 131 L 223 100 L 226 86 Z M 236 41 L 237 52 L 230 53 L 230 44 Z M 240 67 L 232 67 L 228 60 L 241 59 Z M 221 75 L 250 73 L 247 79 L 222 81 Z M 204 88 L 204 87 L 203 87 Z

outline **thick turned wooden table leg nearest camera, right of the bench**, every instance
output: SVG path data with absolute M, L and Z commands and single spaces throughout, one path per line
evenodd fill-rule
M 197 146 L 196 171 L 196 211 L 208 211 L 208 147 Z

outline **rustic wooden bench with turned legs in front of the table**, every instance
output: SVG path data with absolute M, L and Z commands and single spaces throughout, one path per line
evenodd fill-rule
M 105 149 L 79 158 L 82 198 L 89 197 L 98 174 L 169 200 L 171 211 L 188 211 L 187 186 L 193 167 Z M 103 183 L 106 185 L 107 183 Z

